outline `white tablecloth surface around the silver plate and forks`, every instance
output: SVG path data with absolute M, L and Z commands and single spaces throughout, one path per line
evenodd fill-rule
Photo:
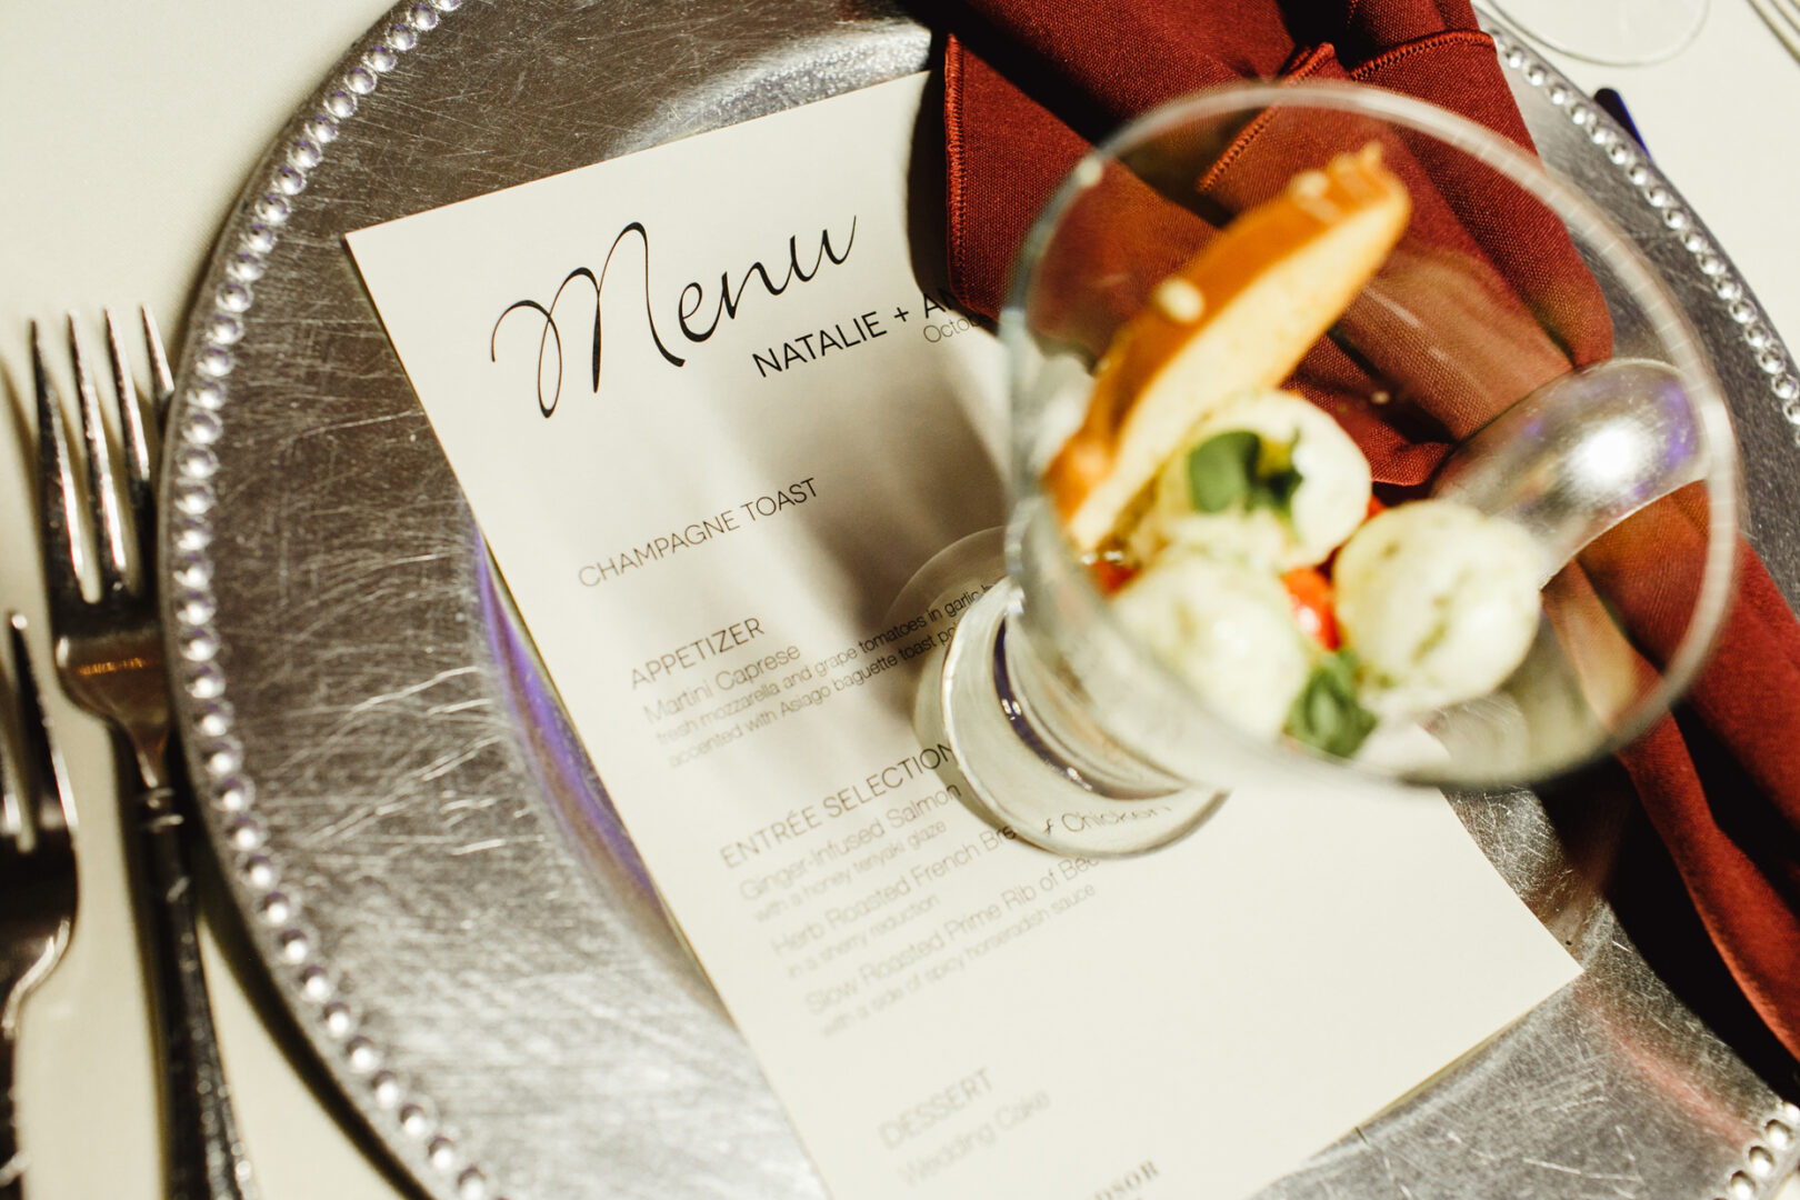
M 0 608 L 32 621 L 49 664 L 31 522 L 27 322 L 99 327 L 149 304 L 175 335 L 211 239 L 266 142 L 387 0 L 61 0 L 0 7 Z M 1789 347 L 1800 347 L 1800 61 L 1748 0 L 1712 0 L 1699 40 L 1652 67 L 1548 54 L 1613 86 L 1658 166 L 1737 263 Z M 1789 117 L 1791 121 L 1791 117 Z M 97 351 L 99 342 L 90 340 Z M 63 966 L 23 1013 L 20 1139 L 32 1200 L 160 1195 L 153 1065 L 122 887 L 108 743 L 50 687 L 47 703 L 81 808 L 81 916 Z M 220 898 L 209 896 L 216 910 Z M 225 1069 L 265 1200 L 407 1195 L 311 1090 L 304 1049 L 259 1013 L 205 937 Z M 257 964 L 243 964 L 254 972 Z M 106 1148 L 95 1144 L 104 1132 Z M 1723 1180 L 1721 1180 L 1723 1184 Z M 1784 1191 L 1800 1200 L 1800 1182 Z

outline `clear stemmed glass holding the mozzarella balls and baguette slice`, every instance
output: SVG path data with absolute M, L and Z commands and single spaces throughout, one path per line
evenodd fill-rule
M 1096 363 L 1157 284 L 1235 212 L 1341 153 L 1382 155 L 1411 219 L 1291 383 L 1364 448 L 1399 446 L 1397 477 L 1415 477 L 1390 498 L 1454 495 L 1526 529 L 1546 579 L 1530 649 L 1492 694 L 1399 720 L 1379 752 L 1350 757 L 1244 732 L 1229 691 L 1195 687 L 1120 619 L 1044 486 Z M 1480 228 L 1494 212 L 1517 225 Z M 1564 279 L 1508 261 L 1494 237 L 1514 232 L 1561 245 Z M 961 608 L 920 687 L 920 732 L 949 739 L 977 810 L 1049 849 L 1152 849 L 1271 777 L 1348 793 L 1566 772 L 1667 712 L 1724 612 L 1737 457 L 1692 329 L 1584 196 L 1435 106 L 1357 85 L 1242 85 L 1141 117 L 1039 219 L 1001 336 L 1010 524 L 929 563 L 893 612 Z M 1568 353 L 1595 362 L 1571 371 Z M 1449 452 L 1436 475 L 1417 466 L 1433 448 Z

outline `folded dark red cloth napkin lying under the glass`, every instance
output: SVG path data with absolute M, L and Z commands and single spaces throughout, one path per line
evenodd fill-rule
M 965 0 L 936 16 L 949 31 L 950 282 L 990 317 L 1028 228 L 1089 144 L 1184 92 L 1244 77 L 1354 79 L 1436 103 L 1532 149 L 1467 0 Z M 1546 225 L 1543 209 L 1496 201 L 1476 167 L 1429 146 L 1409 151 L 1397 169 L 1413 189 L 1415 228 L 1498 272 L 1548 333 L 1521 351 L 1525 383 L 1606 358 L 1604 306 L 1562 228 Z M 1449 439 L 1492 416 L 1480 396 L 1440 401 L 1436 439 L 1420 437 L 1373 408 L 1370 376 L 1325 342 L 1300 378 L 1388 484 L 1424 482 Z M 1649 536 L 1692 545 L 1701 518 L 1690 498 L 1665 502 Z M 1679 635 L 1661 604 L 1670 581 L 1633 578 L 1625 565 L 1642 554 L 1624 552 L 1624 536 L 1615 543 L 1620 552 L 1602 540 L 1582 565 L 1629 608 L 1638 651 L 1660 662 Z M 1800 622 L 1748 547 L 1741 560 L 1737 603 L 1688 702 L 1724 754 L 1706 757 L 1703 779 L 1670 718 L 1620 757 L 1719 955 L 1800 1058 Z

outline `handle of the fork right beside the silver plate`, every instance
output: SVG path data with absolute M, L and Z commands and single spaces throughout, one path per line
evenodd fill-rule
M 184 813 L 169 786 L 137 788 L 128 808 L 146 901 L 149 999 L 162 1061 L 164 1166 L 169 1200 L 256 1200 L 220 1063 Z

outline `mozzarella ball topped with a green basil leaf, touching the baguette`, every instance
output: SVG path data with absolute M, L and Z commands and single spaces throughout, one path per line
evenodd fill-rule
M 1298 475 L 1287 513 L 1246 507 L 1195 511 L 1188 455 L 1220 434 L 1260 439 L 1258 470 Z M 1157 545 L 1188 545 L 1242 558 L 1276 572 L 1325 561 L 1368 513 L 1368 459 L 1337 421 L 1292 392 L 1247 392 L 1193 426 L 1156 480 L 1143 536 L 1132 545 L 1148 558 Z

